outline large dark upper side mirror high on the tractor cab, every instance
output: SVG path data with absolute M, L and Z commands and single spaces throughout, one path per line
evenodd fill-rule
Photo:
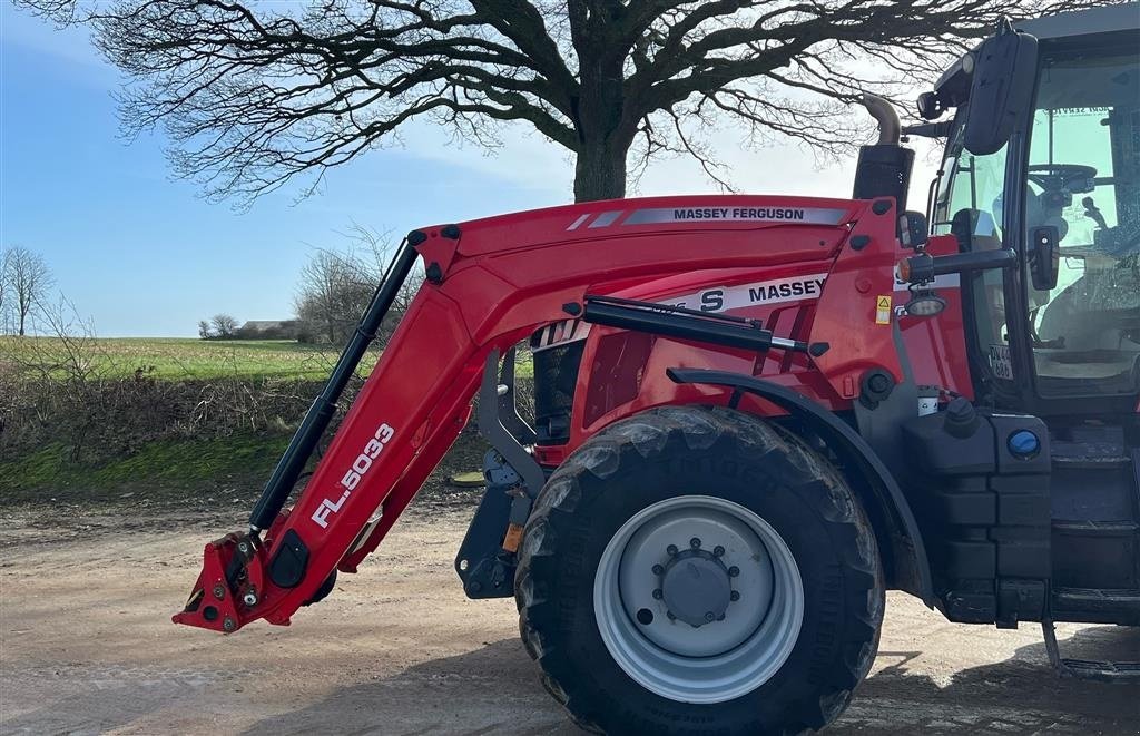
M 976 156 L 997 152 L 1033 101 L 1037 39 L 1003 21 L 975 51 L 963 140 Z

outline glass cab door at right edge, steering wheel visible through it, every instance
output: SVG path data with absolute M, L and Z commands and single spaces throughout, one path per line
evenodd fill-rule
M 1044 406 L 1140 395 L 1138 59 L 1134 48 L 1042 59 L 1024 221 L 1056 228 L 1059 277 L 1051 289 L 1026 278 L 1024 308 Z

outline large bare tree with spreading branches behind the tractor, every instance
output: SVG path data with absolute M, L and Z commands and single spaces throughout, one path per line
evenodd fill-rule
M 177 173 L 249 201 L 427 120 L 479 145 L 521 123 L 576 158 L 578 201 L 695 157 L 722 117 L 754 144 L 857 139 L 847 105 L 931 77 L 995 22 L 1108 0 L 17 0 L 88 23 L 128 79 L 129 132 L 162 125 Z

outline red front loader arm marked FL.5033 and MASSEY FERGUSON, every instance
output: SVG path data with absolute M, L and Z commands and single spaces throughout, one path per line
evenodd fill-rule
M 700 269 L 828 260 L 833 275 L 844 271 L 846 279 L 837 283 L 849 284 L 857 275 L 870 284 L 845 296 L 850 300 L 846 317 L 829 319 L 819 326 L 820 335 L 813 333 L 813 340 L 841 342 L 845 333 L 873 320 L 876 295 L 891 292 L 894 210 L 886 211 L 881 201 L 872 207 L 870 202 L 836 199 L 683 198 L 689 207 L 724 205 L 725 212 L 731 206 L 744 213 L 807 213 L 789 222 L 638 215 L 683 212 L 678 199 L 556 207 L 409 235 L 397 263 L 409 265 L 417 254 L 427 280 L 304 490 L 291 509 L 283 509 L 292 482 L 285 477 L 290 482 L 284 488 L 276 479 L 249 532 L 206 546 L 202 573 L 174 621 L 225 632 L 256 619 L 287 624 L 298 608 L 327 592 L 321 587 L 335 570 L 355 572 L 458 436 L 488 355 L 505 352 L 544 325 L 577 316 L 586 294 L 604 295 L 630 281 Z M 619 207 L 622 212 L 614 215 Z M 858 245 L 845 250 L 856 236 Z M 401 269 L 394 270 L 389 279 L 402 280 Z M 381 292 L 398 286 L 385 284 Z M 347 350 L 357 351 L 356 360 L 370 340 L 367 333 L 360 330 L 355 347 Z M 889 359 L 889 329 L 861 347 L 865 355 L 885 355 L 878 362 L 897 373 Z M 352 357 L 342 363 L 352 363 Z M 349 374 L 353 367 L 347 367 Z M 344 369 L 339 365 L 334 379 Z M 830 373 L 824 368 L 824 374 L 839 386 L 862 369 L 841 365 Z M 320 412 L 315 404 L 306 424 L 317 422 L 311 415 Z M 324 415 L 327 424 L 331 410 Z M 316 428 L 323 428 L 319 422 Z M 287 453 L 278 474 L 285 467 L 285 476 L 292 473 L 295 480 L 315 443 L 314 426 L 308 431 L 311 436 L 304 439 L 299 432 L 299 450 Z

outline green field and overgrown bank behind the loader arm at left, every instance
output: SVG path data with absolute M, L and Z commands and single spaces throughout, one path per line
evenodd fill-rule
M 291 341 L 0 337 L 0 506 L 254 493 L 319 385 L 278 382 L 319 382 L 337 355 Z M 529 353 L 516 360 L 527 381 Z M 81 390 L 68 387 L 76 362 Z M 18 386 L 8 401 L 6 386 Z M 478 468 L 483 451 L 469 431 L 440 473 Z

